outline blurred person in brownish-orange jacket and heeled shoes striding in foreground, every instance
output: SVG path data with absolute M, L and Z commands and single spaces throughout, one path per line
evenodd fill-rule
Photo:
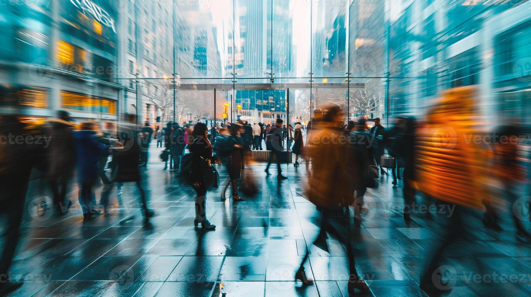
M 363 293 L 369 292 L 369 287 L 359 278 L 354 262 L 354 247 L 351 238 L 350 225 L 348 220 L 348 208 L 344 211 L 345 200 L 352 200 L 352 191 L 348 186 L 350 180 L 347 175 L 347 167 L 350 164 L 345 162 L 348 153 L 347 142 L 341 134 L 341 127 L 337 125 L 343 117 L 341 108 L 335 104 L 330 104 L 324 112 L 320 123 L 321 130 L 312 135 L 309 144 L 312 146 L 312 170 L 307 182 L 307 197 L 309 200 L 322 209 L 321 229 L 315 243 L 326 240 L 327 233 L 335 235 L 347 249 L 349 266 L 348 293 L 354 293 L 355 289 Z M 339 185 L 339 186 L 338 186 Z M 323 246 L 326 246 L 324 244 Z M 306 278 L 304 263 L 308 259 L 308 252 L 295 274 L 295 278 L 304 284 L 311 282 Z

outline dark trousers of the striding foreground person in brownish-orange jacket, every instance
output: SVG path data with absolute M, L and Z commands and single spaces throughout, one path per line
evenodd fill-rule
M 333 237 L 336 237 L 347 248 L 348 268 L 349 268 L 349 282 L 356 282 L 359 280 L 358 272 L 354 261 L 354 244 L 351 237 L 351 224 L 352 220 L 349 220 L 349 212 L 343 209 L 338 211 L 331 211 L 329 209 L 323 209 L 323 216 L 321 221 L 321 229 L 319 235 L 313 242 L 317 247 L 327 247 L 326 234 L 327 232 Z M 303 267 L 305 261 L 308 259 L 308 249 L 306 247 L 306 255 L 301 263 Z

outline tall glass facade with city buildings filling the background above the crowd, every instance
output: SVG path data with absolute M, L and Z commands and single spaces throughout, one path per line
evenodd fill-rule
M 300 121 L 333 102 L 345 110 L 345 120 L 366 116 L 387 122 L 422 115 L 443 90 L 477 85 L 484 111 L 503 119 L 513 115 L 513 103 L 503 103 L 507 98 L 520 102 L 514 103 L 518 108 L 529 106 L 524 101 L 531 16 L 519 7 L 530 5 L 524 0 L 4 5 L 0 63 L 5 74 L 18 74 L 0 75 L 2 88 L 42 94 L 12 100 L 13 92 L 3 91 L 2 106 L 22 102 L 50 112 L 70 107 L 80 120 L 117 121 L 135 113 L 139 122 L 155 125 L 157 119 Z M 64 93 L 78 94 L 70 100 L 79 104 L 65 106 Z M 108 105 L 88 107 L 87 98 Z

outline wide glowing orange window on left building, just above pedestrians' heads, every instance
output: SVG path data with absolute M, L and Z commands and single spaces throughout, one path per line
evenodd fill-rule
M 116 101 L 72 92 L 61 92 L 61 106 L 66 109 L 116 115 Z

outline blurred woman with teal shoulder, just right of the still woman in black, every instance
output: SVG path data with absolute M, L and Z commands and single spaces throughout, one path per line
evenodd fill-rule
M 242 132 L 242 125 L 234 124 L 230 127 L 229 134 L 225 139 L 223 147 L 220 149 L 225 152 L 225 164 L 229 173 L 229 180 L 221 192 L 221 201 L 225 201 L 225 192 L 232 185 L 232 197 L 234 202 L 243 201 L 243 198 L 238 197 L 238 188 L 236 187 L 236 180 L 241 177 L 242 173 L 242 138 L 239 136 Z

